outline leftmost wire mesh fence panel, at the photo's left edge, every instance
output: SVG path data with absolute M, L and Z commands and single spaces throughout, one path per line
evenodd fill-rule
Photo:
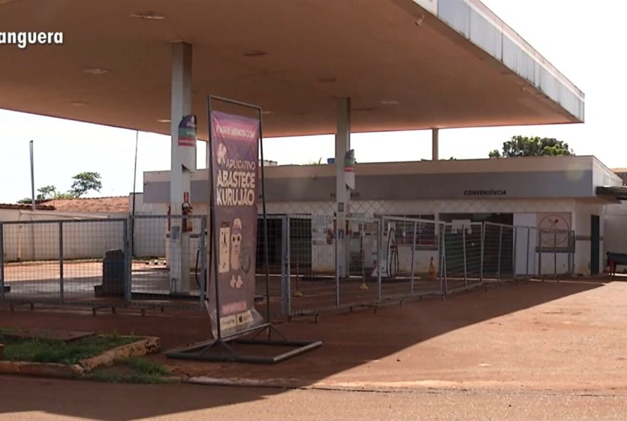
M 105 272 L 115 276 L 123 293 L 126 219 L 31 220 L 1 225 L 4 300 L 93 304 L 100 301 Z M 122 256 L 121 272 L 105 267 L 103 258 L 108 250 L 118 250 Z M 123 294 L 119 298 L 123 302 Z

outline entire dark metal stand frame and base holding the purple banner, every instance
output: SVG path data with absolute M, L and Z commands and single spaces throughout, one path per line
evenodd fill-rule
M 264 277 L 266 281 L 266 322 L 259 326 L 250 327 L 242 331 L 237 331 L 233 334 L 222 334 L 222 326 L 220 323 L 220 304 L 219 304 L 219 282 L 218 282 L 218 250 L 215 233 L 217 233 L 217 223 L 215 218 L 215 180 L 213 174 L 213 135 L 212 135 L 212 100 L 219 102 L 226 102 L 230 105 L 236 105 L 240 107 L 246 107 L 257 111 L 259 119 L 259 155 L 261 158 L 261 200 L 263 208 L 263 228 L 264 228 Z M 290 341 L 281 334 L 279 329 L 271 324 L 271 312 L 270 312 L 270 275 L 269 275 L 269 250 L 268 250 L 268 221 L 266 218 L 266 178 L 264 174 L 264 137 L 263 128 L 261 124 L 261 107 L 256 105 L 249 105 L 244 102 L 229 100 L 227 98 L 216 97 L 212 95 L 207 96 L 207 120 L 209 125 L 209 142 L 207 148 L 209 148 L 209 206 L 210 206 L 210 220 L 209 225 L 211 227 L 209 247 L 211 247 L 210 258 L 212 264 L 209 264 L 214 275 L 214 301 L 216 311 L 216 329 L 217 335 L 215 339 L 210 341 L 204 341 L 202 343 L 196 343 L 195 345 L 188 346 L 186 348 L 178 348 L 165 353 L 168 358 L 179 358 L 187 360 L 197 361 L 230 361 L 240 363 L 258 363 L 258 364 L 274 364 L 284 361 L 288 358 L 297 356 L 306 351 L 318 348 L 322 345 L 321 341 Z M 210 271 L 209 271 L 210 272 Z M 210 282 L 206 282 L 207 288 Z M 204 305 L 207 308 L 209 316 L 212 309 L 209 305 L 209 291 L 205 295 Z M 267 338 L 261 339 L 259 336 L 266 332 Z M 279 339 L 272 339 L 273 332 Z M 291 348 L 289 351 L 279 353 L 275 356 L 266 355 L 251 355 L 239 353 L 231 344 L 243 344 L 246 346 L 273 346 L 273 347 L 286 347 Z

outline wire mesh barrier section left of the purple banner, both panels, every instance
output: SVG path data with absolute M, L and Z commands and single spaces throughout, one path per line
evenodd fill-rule
M 179 220 L 189 228 L 182 252 L 172 253 L 168 225 L 176 218 L 1 223 L 1 298 L 11 304 L 199 307 L 206 279 L 204 217 Z M 183 269 L 182 255 L 189 256 Z

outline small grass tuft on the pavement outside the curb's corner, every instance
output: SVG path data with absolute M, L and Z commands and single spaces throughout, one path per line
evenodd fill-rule
M 172 380 L 165 378 L 168 374 L 162 364 L 135 357 L 124 361 L 122 366 L 95 370 L 86 378 L 108 383 L 171 383 Z

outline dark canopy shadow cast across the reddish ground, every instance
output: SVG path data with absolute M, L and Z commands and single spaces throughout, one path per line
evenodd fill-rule
M 601 280 L 576 282 L 529 282 L 504 284 L 484 292 L 477 289 L 455 294 L 444 301 L 430 299 L 421 302 L 405 302 L 403 307 L 384 307 L 375 313 L 372 309 L 352 314 L 321 316 L 318 323 L 312 319 L 299 319 L 279 325 L 289 339 L 319 339 L 323 346 L 303 356 L 274 366 L 257 366 L 234 363 L 199 363 L 166 360 L 180 375 L 206 375 L 212 378 L 296 379 L 300 385 L 316 383 L 331 375 L 358 368 L 371 361 L 380 361 L 417 343 L 448 334 L 465 326 L 487 321 L 498 316 L 529 309 L 539 304 L 579 294 L 602 287 Z M 167 350 L 186 343 L 209 337 L 209 321 L 201 312 L 157 311 L 145 317 L 137 314 L 98 314 L 81 309 L 36 309 L 28 307 L 18 311 L 0 311 L 0 327 L 21 329 L 51 328 L 84 331 L 112 331 L 120 334 L 160 336 L 162 348 Z M 417 356 L 416 358 L 420 358 Z M 388 358 L 395 363 L 394 358 Z M 386 360 L 387 361 L 387 360 Z M 385 364 L 378 366 L 385 372 Z M 398 370 L 398 366 L 396 368 Z M 411 370 L 411 367 L 408 367 Z M 420 373 L 415 373 L 420 375 Z M 96 420 L 132 420 L 157 417 L 177 412 L 204 409 L 252 400 L 265 399 L 282 393 L 284 389 L 265 388 L 202 388 L 190 385 L 155 385 L 149 396 L 134 395 L 140 390 L 135 385 L 109 385 L 90 382 L 38 380 L 41 388 L 12 387 L 19 384 L 11 377 L 0 377 L 3 398 L 0 412 L 45 411 L 58 415 L 88 417 Z M 48 386 L 50 387 L 46 389 Z M 52 388 L 52 385 L 56 385 Z M 170 388 L 185 388 L 185 399 L 168 400 Z M 141 388 L 146 390 L 146 388 Z M 145 393 L 145 392 L 144 392 Z M 28 400 L 24 395 L 30 396 Z M 110 403 L 110 410 L 102 411 L 101 405 L 85 405 L 85 402 Z M 24 403 L 26 402 L 26 403 Z M 80 405 L 78 403 L 81 403 Z M 165 405 L 164 403 L 167 403 Z M 123 409 L 123 410 L 122 410 Z

